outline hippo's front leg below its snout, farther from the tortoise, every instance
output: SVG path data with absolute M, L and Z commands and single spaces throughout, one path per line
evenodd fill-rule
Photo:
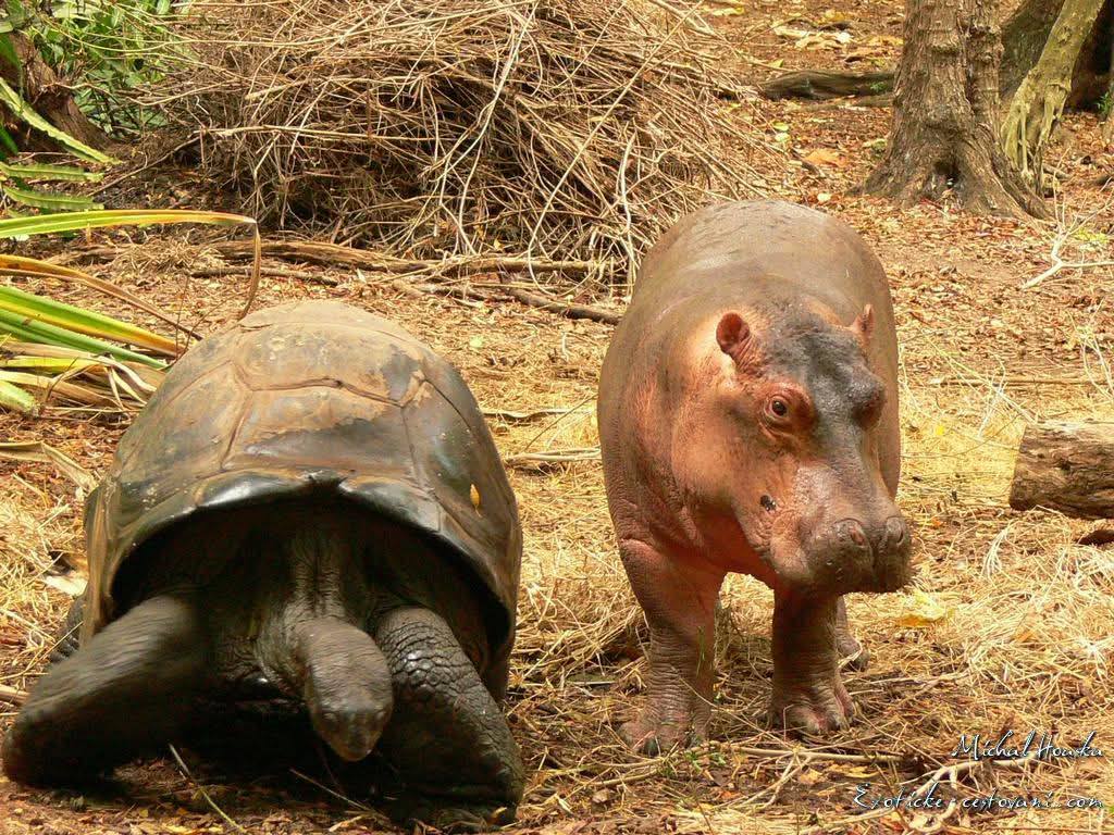
M 774 725 L 807 734 L 848 727 L 854 705 L 839 675 L 839 598 L 803 600 L 775 593 L 773 609 Z

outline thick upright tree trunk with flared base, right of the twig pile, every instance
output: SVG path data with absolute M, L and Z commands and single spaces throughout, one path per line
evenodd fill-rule
M 950 189 L 979 214 L 1045 214 L 997 141 L 1001 46 L 989 1 L 908 0 L 893 129 L 866 191 L 910 204 Z

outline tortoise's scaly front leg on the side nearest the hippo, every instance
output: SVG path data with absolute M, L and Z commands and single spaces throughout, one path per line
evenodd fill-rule
M 394 609 L 375 642 L 394 690 L 380 744 L 401 784 L 392 816 L 452 831 L 512 821 L 524 785 L 518 746 L 449 626 L 429 609 Z

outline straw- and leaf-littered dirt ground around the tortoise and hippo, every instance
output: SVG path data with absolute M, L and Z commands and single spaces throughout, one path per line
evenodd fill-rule
M 726 37 L 725 60 L 736 62 L 743 78 L 761 80 L 779 61 L 785 68 L 891 63 L 900 49 L 900 6 L 848 0 L 833 11 L 815 0 L 760 0 L 707 8 Z M 745 45 L 745 55 L 731 43 Z M 1052 808 L 985 811 L 976 803 L 944 822 L 918 809 L 869 808 L 926 785 L 940 766 L 962 764 L 951 756 L 960 735 L 997 739 L 1033 729 L 1074 747 L 1096 731 L 1093 744 L 1114 749 L 1114 557 L 1077 542 L 1095 523 L 1015 513 L 1006 504 L 1027 423 L 1114 418 L 1111 267 L 1065 268 L 1019 288 L 1049 267 L 1057 239 L 1067 261 L 1112 257 L 1114 194 L 1095 178 L 1114 170 L 1114 154 L 1103 148 L 1096 117 L 1072 115 L 1051 151 L 1061 180 L 1057 219 L 1020 224 L 949 205 L 900 209 L 849 195 L 881 153 L 888 109 L 724 107 L 737 108 L 740 130 L 790 150 L 784 170 L 766 173 L 771 196 L 843 217 L 887 267 L 901 344 L 899 501 L 915 524 L 916 580 L 901 593 L 850 599 L 852 623 L 872 654 L 868 671 L 844 674 L 859 720 L 802 744 L 762 724 L 772 600 L 758 583 L 732 578 L 712 741 L 655 759 L 637 756 L 616 728 L 642 690 L 645 631 L 614 552 L 599 463 L 516 464 L 510 477 L 526 557 L 508 710 L 529 785 L 511 831 L 1114 831 L 1108 756 L 961 768 L 951 775 L 954 787 L 944 776 L 946 796 L 1036 796 Z M 146 176 L 144 187 L 157 194 L 152 200 L 195 194 L 188 170 Z M 127 199 L 123 191 L 118 197 Z M 201 232 L 97 234 L 55 246 L 57 255 L 179 312 L 205 333 L 234 317 L 244 294 L 236 277 L 196 275 L 224 264 L 208 245 L 213 239 Z M 595 445 L 594 391 L 608 326 L 515 303 L 414 296 L 371 273 L 297 271 L 297 277 L 265 278 L 257 306 L 345 299 L 428 341 L 462 371 L 488 410 L 570 410 L 525 421 L 492 416 L 505 455 Z M 113 311 L 88 292 L 61 295 Z M 593 298 L 582 288 L 579 295 L 616 308 L 623 303 L 618 294 Z M 94 473 L 107 466 L 125 425 L 81 413 L 0 415 L 6 439 L 45 440 Z M 42 668 L 69 603 L 66 589 L 80 578 L 80 505 L 74 485 L 49 465 L 3 465 L 0 684 L 26 688 Z M 0 718 L 0 728 L 11 715 Z M 188 774 L 168 758 L 140 763 L 84 795 L 0 778 L 0 833 L 276 835 L 385 826 L 361 798 L 339 796 L 320 765 L 295 773 L 289 764 L 262 762 L 248 778 L 233 779 L 188 749 L 183 756 Z M 1094 803 L 1067 808 L 1073 798 Z

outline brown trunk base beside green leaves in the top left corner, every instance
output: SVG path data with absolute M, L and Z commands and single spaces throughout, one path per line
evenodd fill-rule
M 42 60 L 35 45 L 19 32 L 9 32 L 8 38 L 20 66 L 13 67 L 0 58 L 0 78 L 11 85 L 39 116 L 56 128 L 94 148 L 105 148 L 109 144 L 108 137 L 78 109 L 70 88 Z M 37 146 L 49 150 L 58 149 L 48 137 L 32 137 L 27 125 L 11 127 L 12 132 L 25 136 L 25 141 L 20 145 L 25 150 L 35 150 Z

